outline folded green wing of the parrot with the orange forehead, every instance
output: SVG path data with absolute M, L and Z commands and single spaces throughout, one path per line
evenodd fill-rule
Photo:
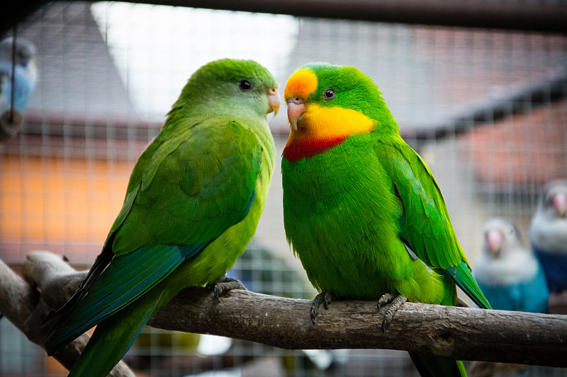
M 490 308 L 471 274 L 430 168 L 401 138 L 395 144 L 381 143 L 376 153 L 403 203 L 400 236 L 420 260 L 430 267 L 440 267 L 478 306 Z

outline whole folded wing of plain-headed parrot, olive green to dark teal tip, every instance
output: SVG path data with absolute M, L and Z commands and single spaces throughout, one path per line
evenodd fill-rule
M 145 294 L 244 219 L 261 159 L 253 132 L 237 122 L 162 132 L 130 176 L 101 255 L 74 296 L 46 318 L 44 326 L 53 325 L 48 352 Z

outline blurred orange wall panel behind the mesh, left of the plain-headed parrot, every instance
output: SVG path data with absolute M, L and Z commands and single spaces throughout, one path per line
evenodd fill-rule
M 1 240 L 102 245 L 120 211 L 132 168 L 132 162 L 121 159 L 4 154 Z M 6 248 L 0 250 L 4 253 Z

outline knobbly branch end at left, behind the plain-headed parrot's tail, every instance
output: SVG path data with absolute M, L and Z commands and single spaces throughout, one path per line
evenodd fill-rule
M 77 289 L 86 272 L 76 272 L 62 257 L 47 252 L 28 255 L 22 267 L 24 279 L 18 277 L 0 260 L 0 313 L 28 339 L 45 349 L 47 333 L 41 328 L 43 318 L 52 308 L 62 306 Z M 38 284 L 43 283 L 43 286 Z M 36 286 L 40 287 L 41 294 Z M 89 342 L 83 334 L 56 352 L 53 357 L 71 369 Z M 108 376 L 134 377 L 133 371 L 120 361 Z

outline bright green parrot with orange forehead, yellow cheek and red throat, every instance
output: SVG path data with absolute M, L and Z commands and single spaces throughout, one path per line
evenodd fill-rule
M 332 298 L 456 306 L 456 285 L 490 308 L 471 275 L 439 186 L 374 82 L 353 66 L 310 63 L 286 83 L 286 237 L 315 289 Z M 411 354 L 423 376 L 466 376 L 462 361 Z

